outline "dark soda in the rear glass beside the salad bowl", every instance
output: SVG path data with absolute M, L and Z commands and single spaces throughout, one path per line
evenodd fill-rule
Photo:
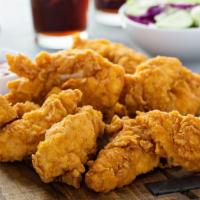
M 126 2 L 126 0 L 95 0 L 98 10 L 115 13 Z

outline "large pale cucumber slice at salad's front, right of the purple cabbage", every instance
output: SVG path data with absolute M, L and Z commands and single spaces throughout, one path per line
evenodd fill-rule
M 166 17 L 157 17 L 156 26 L 159 28 L 189 28 L 194 20 L 187 11 L 177 11 L 166 15 Z

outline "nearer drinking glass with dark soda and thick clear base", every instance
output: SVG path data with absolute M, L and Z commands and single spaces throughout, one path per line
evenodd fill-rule
M 31 0 L 31 6 L 39 46 L 66 49 L 74 34 L 87 38 L 88 0 Z

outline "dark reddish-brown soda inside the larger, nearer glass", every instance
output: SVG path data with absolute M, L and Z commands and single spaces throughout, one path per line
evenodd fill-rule
M 36 32 L 64 36 L 87 26 L 88 0 L 31 0 Z

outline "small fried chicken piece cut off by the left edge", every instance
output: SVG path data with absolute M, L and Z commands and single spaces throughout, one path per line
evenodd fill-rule
M 17 118 L 16 110 L 0 95 L 0 127 Z

